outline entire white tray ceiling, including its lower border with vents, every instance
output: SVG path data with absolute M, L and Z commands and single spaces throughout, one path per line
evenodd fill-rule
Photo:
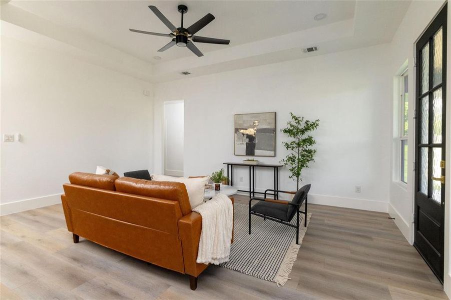
M 215 20 L 198 34 L 227 38 L 230 44 L 197 43 L 205 54 L 203 57 L 176 46 L 157 52 L 169 38 L 128 30 L 169 33 L 148 5 L 157 6 L 177 27 L 178 4 L 188 6 L 184 27 L 210 12 Z M 136 74 L 130 70 L 132 75 L 165 81 L 181 78 L 183 70 L 202 75 L 308 57 L 313 53 L 305 54 L 302 48 L 312 45 L 319 46 L 320 50 L 313 54 L 318 55 L 388 42 L 409 4 L 410 1 L 402 0 L 12 0 L 2 5 L 2 19 L 83 49 L 90 57 L 98 55 L 103 61 L 99 64 L 108 59 L 108 67 L 133 62 L 139 70 Z M 327 17 L 316 21 L 314 16 L 318 13 L 326 13 Z M 156 55 L 162 59 L 155 60 Z M 144 74 L 146 70 L 148 74 Z

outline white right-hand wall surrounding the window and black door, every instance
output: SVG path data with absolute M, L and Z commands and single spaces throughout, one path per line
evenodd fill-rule
M 413 243 L 413 223 L 412 215 L 414 211 L 414 172 L 413 172 L 413 160 L 414 160 L 414 130 L 413 130 L 413 116 L 414 116 L 414 97 L 415 85 L 414 85 L 414 45 L 416 39 L 421 35 L 422 31 L 427 27 L 428 23 L 434 18 L 435 14 L 438 13 L 444 1 L 412 1 L 407 10 L 404 19 L 399 25 L 393 40 L 390 44 L 391 53 L 391 74 L 394 75 L 398 67 L 408 59 L 408 69 L 409 69 L 409 142 L 408 142 L 408 184 L 406 186 L 397 182 L 395 176 L 390 177 L 390 205 L 389 211 L 392 216 L 394 216 L 395 222 L 401 229 L 404 236 L 410 243 Z M 448 6 L 448 29 L 449 24 L 451 24 L 451 13 Z M 451 86 L 451 31 L 448 30 L 447 34 L 447 86 Z M 395 107 L 392 107 L 395 109 Z M 447 113 L 446 113 L 446 132 L 451 132 L 451 101 L 447 99 Z M 444 290 L 448 296 L 451 296 L 451 273 L 450 273 L 450 241 L 449 238 L 449 221 L 450 221 L 450 189 L 451 189 L 451 167 L 449 167 L 449 161 L 451 161 L 451 138 L 449 134 L 446 138 L 446 178 L 447 182 L 445 184 L 445 249 L 444 249 Z M 392 136 L 395 137 L 395 136 Z M 393 169 L 393 161 L 395 161 L 398 151 L 393 147 L 391 151 L 391 169 Z

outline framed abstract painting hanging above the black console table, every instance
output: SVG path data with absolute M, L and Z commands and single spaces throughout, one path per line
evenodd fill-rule
M 276 113 L 235 114 L 235 155 L 276 155 Z

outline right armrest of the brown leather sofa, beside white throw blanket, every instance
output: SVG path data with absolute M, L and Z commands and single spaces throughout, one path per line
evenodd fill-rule
M 208 264 L 196 262 L 201 231 L 202 216 L 199 213 L 192 211 L 179 219 L 185 273 L 195 277 L 208 266 Z

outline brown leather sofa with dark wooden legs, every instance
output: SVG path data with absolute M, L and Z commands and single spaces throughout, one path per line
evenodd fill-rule
M 196 289 L 202 217 L 184 183 L 76 172 L 61 195 L 68 230 L 130 256 L 189 275 Z M 231 198 L 233 203 L 233 198 Z

